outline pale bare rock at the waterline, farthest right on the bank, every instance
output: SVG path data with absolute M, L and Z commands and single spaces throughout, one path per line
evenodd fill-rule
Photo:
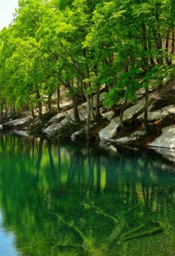
M 175 148 L 175 125 L 162 129 L 162 134 L 149 144 L 150 147 Z

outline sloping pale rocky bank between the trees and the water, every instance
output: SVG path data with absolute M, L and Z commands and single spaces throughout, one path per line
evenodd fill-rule
M 150 98 L 155 97 L 152 92 Z M 139 111 L 144 106 L 144 97 L 138 99 L 135 104 L 127 108 L 123 114 L 123 120 L 128 120 L 133 113 Z M 36 118 L 33 120 L 32 116 L 25 116 L 15 120 L 10 120 L 5 124 L 0 125 L 1 130 L 12 130 L 19 134 L 25 134 L 37 131 L 38 135 L 44 134 L 47 138 L 57 140 L 59 133 L 61 140 L 70 138 L 72 141 L 86 140 L 86 119 L 88 116 L 87 104 L 84 103 L 79 106 L 79 113 L 81 124 L 75 125 L 73 116 L 73 108 L 61 111 L 60 113 L 52 113 L 47 116 L 45 120 Z M 102 120 L 100 122 L 93 122 L 91 124 L 91 140 L 93 143 L 102 145 L 103 147 L 126 145 L 129 147 L 151 147 L 156 152 L 168 156 L 168 159 L 175 158 L 175 104 L 163 106 L 158 108 L 153 102 L 148 109 L 148 127 L 143 125 L 143 114 L 138 116 L 138 125 L 132 127 L 130 131 L 122 131 L 120 128 L 119 116 L 116 116 L 112 109 L 100 109 L 102 113 Z M 47 113 L 46 113 L 47 115 Z M 34 131 L 35 131 L 34 130 Z M 22 131 L 22 132 L 20 132 Z M 29 132 L 27 132 L 29 131 Z M 163 149 L 162 149 L 163 148 Z M 164 149 L 165 148 L 165 149 Z

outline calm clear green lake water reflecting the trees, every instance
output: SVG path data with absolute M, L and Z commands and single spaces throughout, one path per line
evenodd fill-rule
M 175 255 L 175 166 L 158 154 L 1 134 L 0 255 Z

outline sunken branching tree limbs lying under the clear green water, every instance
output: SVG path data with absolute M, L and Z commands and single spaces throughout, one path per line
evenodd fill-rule
M 103 243 L 101 243 L 98 246 L 98 248 L 95 247 L 93 244 L 93 241 L 91 239 L 89 239 L 88 237 L 84 236 L 82 231 L 77 226 L 73 225 L 72 222 L 66 221 L 61 215 L 57 214 L 56 212 L 37 208 L 40 211 L 45 211 L 45 212 L 48 212 L 50 214 L 57 216 L 59 221 L 61 221 L 66 226 L 72 228 L 75 231 L 75 233 L 77 233 L 79 235 L 80 239 L 82 240 L 82 246 L 80 246 L 80 245 L 62 246 L 61 245 L 61 246 L 58 246 L 59 248 L 62 248 L 63 250 L 64 250 L 64 248 L 82 248 L 82 249 L 86 250 L 88 252 L 88 254 L 91 256 L 106 256 L 107 252 L 109 251 L 109 247 L 112 245 L 112 243 L 114 243 L 114 241 L 118 241 L 119 243 L 123 243 L 123 248 L 125 249 L 124 250 L 125 255 L 127 255 L 128 241 L 130 241 L 132 239 L 139 239 L 139 238 L 146 237 L 146 236 L 153 236 L 155 234 L 159 234 L 160 232 L 164 231 L 164 229 L 161 227 L 160 223 L 151 221 L 153 223 L 153 225 L 156 226 L 155 228 L 152 228 L 151 230 L 147 230 L 147 231 L 137 234 L 137 232 L 146 228 L 146 226 L 144 224 L 141 224 L 141 225 L 139 225 L 139 227 L 132 228 L 132 230 L 129 230 L 128 232 L 125 232 L 124 234 L 121 235 L 121 232 L 126 225 L 125 221 L 121 221 L 121 223 L 120 223 L 116 218 L 114 218 L 114 216 L 111 216 L 111 215 L 105 213 L 102 209 L 100 209 L 100 207 L 96 207 L 95 205 L 89 205 L 89 204 L 84 204 L 84 205 L 86 207 L 95 209 L 96 213 L 102 214 L 103 216 L 109 218 L 110 220 L 114 221 L 114 223 L 116 223 L 116 227 L 114 227 L 110 236 L 107 237 L 107 239 L 105 239 L 105 241 Z

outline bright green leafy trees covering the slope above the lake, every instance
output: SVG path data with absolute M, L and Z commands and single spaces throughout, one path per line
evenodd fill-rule
M 87 102 L 87 131 L 103 106 L 123 112 L 149 88 L 162 88 L 174 73 L 174 0 L 19 0 L 13 22 L 1 31 L 1 122 L 24 108 L 42 117 L 61 90 L 78 106 Z M 137 116 L 136 116 L 137 117 Z

